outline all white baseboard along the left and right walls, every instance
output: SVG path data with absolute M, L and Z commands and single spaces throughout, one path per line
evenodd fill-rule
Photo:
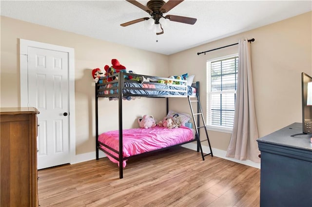
M 195 144 L 195 143 L 187 143 L 187 144 L 182 145 L 182 147 L 185 147 L 185 148 L 191 149 L 191 150 L 195 150 L 195 151 L 197 150 L 197 144 Z M 205 154 L 210 153 L 208 146 L 202 146 L 202 149 L 203 149 L 203 152 Z M 215 149 L 215 148 L 212 148 L 212 150 L 213 150 L 214 156 L 260 169 L 260 163 L 255 163 L 251 160 L 237 160 L 234 158 L 226 157 L 225 156 L 226 151 L 224 151 L 224 150 L 219 150 L 219 149 Z M 106 155 L 102 151 L 99 150 L 98 151 L 98 157 L 102 158 L 102 157 L 106 157 Z M 89 160 L 92 160 L 95 158 L 96 158 L 96 152 L 79 154 L 79 155 L 76 155 L 76 163 L 89 161 Z M 75 164 L 75 163 L 71 163 L 71 164 Z

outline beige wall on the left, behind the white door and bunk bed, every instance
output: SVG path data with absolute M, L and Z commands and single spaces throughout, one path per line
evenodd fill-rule
M 1 16 L 1 107 L 20 106 L 19 39 L 44 42 L 75 49 L 76 154 L 95 151 L 95 98 L 91 71 L 111 59 L 138 74 L 168 76 L 169 57 L 98 39 Z M 123 102 L 124 128 L 137 127 L 137 117 L 166 115 L 164 99 L 141 98 Z M 99 132 L 118 129 L 118 102 L 99 100 Z

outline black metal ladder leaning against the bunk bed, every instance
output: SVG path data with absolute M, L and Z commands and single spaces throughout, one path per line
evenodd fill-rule
M 210 145 L 210 141 L 209 141 L 209 136 L 208 136 L 208 132 L 207 132 L 207 127 L 206 127 L 206 123 L 205 123 L 205 119 L 204 119 L 204 115 L 203 115 L 203 110 L 201 108 L 201 105 L 200 105 L 200 102 L 199 102 L 199 97 L 197 96 L 196 97 L 196 100 L 192 100 L 191 99 L 192 97 L 191 96 L 188 96 L 188 100 L 189 100 L 189 104 L 190 104 L 190 107 L 191 107 L 191 111 L 192 111 L 192 117 L 193 117 L 193 121 L 194 121 L 194 125 L 195 125 L 195 130 L 196 130 L 196 137 L 197 137 L 197 152 L 199 152 L 199 150 L 201 151 L 201 156 L 203 158 L 203 160 L 205 160 L 205 156 L 207 155 L 211 155 L 211 156 L 214 156 L 213 155 L 213 151 L 211 149 L 211 145 Z M 195 97 L 194 97 L 195 98 Z M 192 102 L 194 103 L 197 103 L 197 113 L 194 113 L 194 109 L 193 109 L 193 106 L 192 106 Z M 197 121 L 195 121 L 195 116 L 197 116 Z M 201 119 L 202 119 L 202 122 L 203 122 L 203 126 L 200 126 L 200 119 L 199 119 L 199 116 L 201 116 Z M 205 128 L 205 133 L 206 133 L 206 139 L 204 140 L 200 140 L 200 137 L 199 137 L 199 129 L 200 128 Z M 208 146 L 209 146 L 209 149 L 210 149 L 210 153 L 204 155 L 203 154 L 203 150 L 202 150 L 202 147 L 201 147 L 201 142 L 204 142 L 204 141 L 207 141 L 208 142 Z M 200 148 L 200 149 L 199 149 Z

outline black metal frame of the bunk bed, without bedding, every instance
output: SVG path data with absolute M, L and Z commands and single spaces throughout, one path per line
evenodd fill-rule
M 203 152 L 202 152 L 200 138 L 199 138 L 199 132 L 197 132 L 196 135 L 195 135 L 195 138 L 190 140 L 190 141 L 186 141 L 186 142 L 183 142 L 183 143 L 179 143 L 179 144 L 176 144 L 176 145 L 172 145 L 172 146 L 169 146 L 169 147 L 166 147 L 166 148 L 161 148 L 161 149 L 150 151 L 150 152 L 145 152 L 145 153 L 142 153 L 142 154 L 139 154 L 139 155 L 132 155 L 132 156 L 128 156 L 128 157 L 123 157 L 123 147 L 122 147 L 123 146 L 123 143 L 122 143 L 122 98 L 123 97 L 139 96 L 139 97 L 151 97 L 151 98 L 152 97 L 153 98 L 166 98 L 167 114 L 168 114 L 168 111 L 169 111 L 169 99 L 168 98 L 170 98 L 170 97 L 184 97 L 184 98 L 188 98 L 189 97 L 188 94 L 187 94 L 186 81 L 184 81 L 184 80 L 180 81 L 182 83 L 185 83 L 185 86 L 181 86 L 181 88 L 183 88 L 182 90 L 159 89 L 159 88 L 141 88 L 141 87 L 126 87 L 124 85 L 124 83 L 126 83 L 126 82 L 130 82 L 130 83 L 131 82 L 136 82 L 137 83 L 137 81 L 126 80 L 124 77 L 126 77 L 128 75 L 131 75 L 133 77 L 142 77 L 142 76 L 144 76 L 145 78 L 151 78 L 151 79 L 156 79 L 156 80 L 169 80 L 169 81 L 175 80 L 175 81 L 179 81 L 179 80 L 176 80 L 176 79 L 163 78 L 163 77 L 158 77 L 158 76 L 148 76 L 148 75 L 140 75 L 140 74 L 119 72 L 119 73 L 115 73 L 112 76 L 109 76 L 109 78 L 110 77 L 112 77 L 112 78 L 115 77 L 116 79 L 114 81 L 110 81 L 110 82 L 106 82 L 106 83 L 99 83 L 99 82 L 96 83 L 96 86 L 95 86 L 95 93 L 96 93 L 95 94 L 95 98 L 96 98 L 96 100 L 95 100 L 95 104 L 96 104 L 96 159 L 97 160 L 99 159 L 98 150 L 101 150 L 104 153 L 106 153 L 107 155 L 110 155 L 111 157 L 113 157 L 114 159 L 119 161 L 119 178 L 120 179 L 123 178 L 123 160 L 125 160 L 125 159 L 128 160 L 129 158 L 137 157 L 137 156 L 140 156 L 140 155 L 147 155 L 147 154 L 150 154 L 150 153 L 155 153 L 155 152 L 158 152 L 158 151 L 166 150 L 166 149 L 169 149 L 169 148 L 173 148 L 173 147 L 180 146 L 180 145 L 183 145 L 183 144 L 186 144 L 186 143 L 190 143 L 190 142 L 194 142 L 194 141 L 197 142 L 197 152 L 199 152 L 199 151 L 201 152 L 202 159 L 204 160 L 204 155 L 203 155 Z M 103 80 L 103 79 L 100 79 L 100 80 Z M 117 86 L 113 86 L 113 87 L 110 87 L 110 88 L 104 88 L 103 87 L 103 86 L 105 86 L 107 84 L 114 84 L 114 83 L 117 83 Z M 159 83 L 147 82 L 147 84 L 159 84 Z M 195 98 L 199 101 L 199 82 L 193 83 L 192 86 L 196 88 L 196 97 Z M 179 87 L 180 87 L 180 85 L 179 85 Z M 131 94 L 131 93 L 125 93 L 124 92 L 125 89 L 161 90 L 161 91 L 171 91 L 171 92 L 185 92 L 185 95 L 143 95 L 143 94 Z M 105 90 L 118 90 L 118 92 L 115 93 L 115 94 L 104 94 Z M 102 94 L 99 94 L 99 92 L 102 92 Z M 118 98 L 119 151 L 117 151 L 117 150 L 113 149 L 112 147 L 110 147 L 110 146 L 108 146 L 108 145 L 98 141 L 98 98 L 99 97 L 117 97 Z M 197 113 L 199 113 L 199 108 L 200 108 L 200 106 L 199 106 L 199 102 L 198 102 L 197 103 Z M 194 119 L 194 121 L 195 121 L 195 119 Z M 199 117 L 197 117 L 197 123 L 199 123 Z M 102 145 L 105 148 L 107 148 L 107 149 L 117 153 L 118 157 L 115 156 L 115 155 L 112 155 L 111 153 L 109 153 L 107 151 L 105 151 L 104 149 L 102 149 L 100 147 L 100 145 Z

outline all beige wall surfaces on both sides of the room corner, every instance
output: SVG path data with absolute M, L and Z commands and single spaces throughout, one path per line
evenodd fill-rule
M 267 135 L 292 122 L 301 122 L 300 74 L 312 75 L 312 13 L 286 19 L 246 33 L 204 44 L 170 56 L 142 51 L 115 43 L 76 35 L 1 16 L 0 105 L 20 106 L 20 73 L 18 39 L 28 39 L 75 49 L 76 154 L 95 150 L 94 82 L 91 70 L 110 65 L 117 58 L 127 69 L 137 73 L 168 76 L 188 72 L 201 82 L 201 103 L 206 110 L 206 62 L 209 59 L 237 53 L 237 46 L 206 55 L 202 52 L 255 38 L 252 43 L 255 108 L 259 135 Z M 137 117 L 165 115 L 165 102 L 141 98 L 123 102 L 124 128 L 135 127 Z M 182 104 L 181 104 L 182 103 Z M 187 100 L 175 99 L 171 108 L 189 113 Z M 117 129 L 117 102 L 99 101 L 103 123 L 99 131 Z M 230 134 L 209 131 L 212 146 L 226 150 Z

